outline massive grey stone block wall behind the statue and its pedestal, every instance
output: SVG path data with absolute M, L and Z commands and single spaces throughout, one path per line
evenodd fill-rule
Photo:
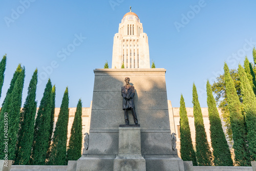
M 77 170 L 113 170 L 119 155 L 119 125 L 124 124 L 121 87 L 130 77 L 140 124 L 141 155 L 146 170 L 184 170 L 172 149 L 165 69 L 96 69 L 88 149 Z M 130 123 L 133 117 L 129 111 Z

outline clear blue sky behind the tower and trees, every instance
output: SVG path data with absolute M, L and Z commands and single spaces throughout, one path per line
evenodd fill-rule
M 181 93 L 186 106 L 193 106 L 193 82 L 201 107 L 207 107 L 206 80 L 212 83 L 223 72 L 224 61 L 229 68 L 237 68 L 245 55 L 253 61 L 255 1 L 28 2 L 0 2 L 0 55 L 7 53 L 1 104 L 18 63 L 22 63 L 26 68 L 23 103 L 38 68 L 38 106 L 50 77 L 56 84 L 56 107 L 60 107 L 67 86 L 71 108 L 79 98 L 83 107 L 89 107 L 93 70 L 103 68 L 106 60 L 111 66 L 113 37 L 130 6 L 148 35 L 151 61 L 167 70 L 167 96 L 174 107 L 180 106 Z M 73 42 L 76 36 L 81 36 L 81 41 Z M 68 47 L 72 52 L 61 52 Z M 49 69 L 51 63 L 54 68 L 46 73 L 44 68 Z

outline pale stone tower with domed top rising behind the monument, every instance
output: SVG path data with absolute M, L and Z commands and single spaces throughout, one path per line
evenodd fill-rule
M 126 13 L 114 36 L 112 68 L 150 68 L 148 38 L 137 14 Z

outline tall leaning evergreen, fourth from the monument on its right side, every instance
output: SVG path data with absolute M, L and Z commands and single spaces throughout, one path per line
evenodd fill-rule
M 233 80 L 229 74 L 227 63 L 224 65 L 224 80 L 226 86 L 226 95 L 228 110 L 230 113 L 230 124 L 233 133 L 234 160 L 239 166 L 249 166 L 250 157 L 247 147 L 246 128 L 244 116 L 242 115 L 240 100 L 234 87 Z

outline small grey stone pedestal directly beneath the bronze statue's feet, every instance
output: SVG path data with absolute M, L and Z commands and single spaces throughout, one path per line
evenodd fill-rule
M 146 171 L 146 161 L 141 156 L 140 125 L 119 126 L 118 156 L 114 171 Z

